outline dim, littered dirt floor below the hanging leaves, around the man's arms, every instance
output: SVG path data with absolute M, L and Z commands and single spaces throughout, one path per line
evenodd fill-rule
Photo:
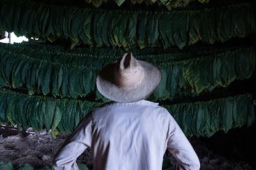
M 31 164 L 35 169 L 40 169 L 50 165 L 54 154 L 58 151 L 61 144 L 67 139 L 69 134 L 59 134 L 56 139 L 51 137 L 50 133 L 44 130 L 33 132 L 29 129 L 28 136 L 22 134 L 3 137 L 0 135 L 0 161 L 12 162 L 13 166 L 18 164 Z M 190 140 L 201 162 L 201 169 L 253 169 L 248 163 L 229 160 L 214 151 L 209 150 L 206 144 L 199 139 Z M 86 150 L 83 155 L 77 159 L 77 163 L 87 164 L 92 169 L 92 153 Z M 163 169 L 176 169 L 175 159 L 166 152 L 164 155 Z

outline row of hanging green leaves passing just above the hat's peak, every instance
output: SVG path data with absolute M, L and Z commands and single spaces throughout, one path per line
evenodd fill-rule
M 16 35 L 54 42 L 65 38 L 71 47 L 164 47 L 225 42 L 256 32 L 252 3 L 176 10 L 172 12 L 95 10 L 29 1 L 0 2 L 0 26 Z

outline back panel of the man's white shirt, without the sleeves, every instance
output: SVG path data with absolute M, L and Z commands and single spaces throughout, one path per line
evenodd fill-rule
M 161 169 L 166 112 L 153 102 L 107 104 L 92 112 L 95 169 Z M 103 156 L 103 157 L 102 157 Z

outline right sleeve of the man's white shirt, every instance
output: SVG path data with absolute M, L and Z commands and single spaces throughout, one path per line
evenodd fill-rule
M 179 163 L 180 169 L 200 169 L 199 159 L 172 115 L 166 111 L 168 122 L 167 148 Z

